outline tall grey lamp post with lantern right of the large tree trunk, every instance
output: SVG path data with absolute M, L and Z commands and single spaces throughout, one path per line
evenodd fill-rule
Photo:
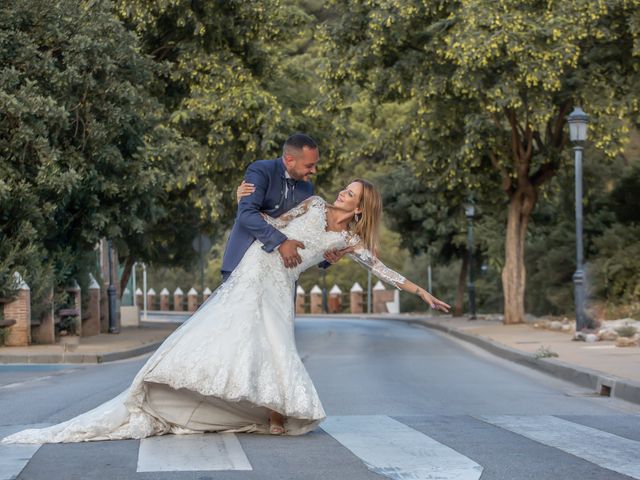
M 580 107 L 575 107 L 567 117 L 569 123 L 569 138 L 573 143 L 576 169 L 576 271 L 573 274 L 573 294 L 576 306 L 576 332 L 587 328 L 588 322 L 584 311 L 584 249 L 582 245 L 582 151 L 587 140 L 587 126 L 589 115 Z

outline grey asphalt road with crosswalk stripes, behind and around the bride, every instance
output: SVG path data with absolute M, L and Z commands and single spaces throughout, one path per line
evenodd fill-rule
M 0 446 L 0 480 L 640 479 L 636 405 L 402 322 L 304 318 L 296 336 L 329 416 L 308 435 Z M 0 366 L 0 436 L 99 405 L 145 358 Z

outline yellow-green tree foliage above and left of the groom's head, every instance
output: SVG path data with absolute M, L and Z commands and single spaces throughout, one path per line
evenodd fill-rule
M 159 97 L 170 112 L 167 126 L 192 141 L 176 162 L 175 187 L 187 188 L 203 220 L 228 223 L 247 165 L 279 155 L 299 127 L 277 96 L 283 93 L 278 80 L 285 78 L 283 64 L 290 70 L 285 46 L 309 17 L 275 0 L 115 5 L 164 68 Z

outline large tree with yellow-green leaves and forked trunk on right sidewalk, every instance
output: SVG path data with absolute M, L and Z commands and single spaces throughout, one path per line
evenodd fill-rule
M 328 93 L 317 108 L 339 111 L 344 126 L 367 95 L 377 105 L 364 152 L 411 162 L 433 188 L 499 186 L 505 323 L 521 322 L 527 227 L 541 189 L 570 158 L 566 115 L 581 104 L 609 157 L 638 119 L 640 2 L 333 5 L 341 17 L 324 27 Z M 375 115 L 388 105 L 404 109 L 404 122 Z

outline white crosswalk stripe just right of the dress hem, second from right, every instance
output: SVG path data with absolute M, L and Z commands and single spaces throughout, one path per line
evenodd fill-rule
M 379 475 L 396 480 L 477 480 L 482 475 L 470 458 L 384 415 L 328 417 L 321 426 Z

